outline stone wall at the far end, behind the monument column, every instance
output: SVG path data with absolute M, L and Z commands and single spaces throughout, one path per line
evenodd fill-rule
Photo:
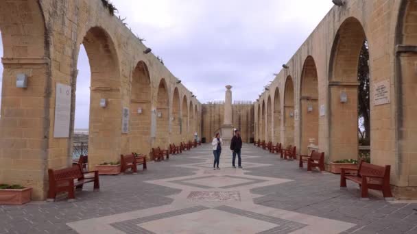
M 233 127 L 241 130 L 243 142 L 254 137 L 254 106 L 250 104 L 232 105 Z M 202 105 L 202 137 L 211 141 L 223 124 L 223 104 Z

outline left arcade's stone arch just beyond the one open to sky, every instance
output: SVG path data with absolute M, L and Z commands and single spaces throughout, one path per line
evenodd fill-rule
M 152 94 L 150 74 L 140 61 L 132 73 L 130 91 L 130 151 L 147 155 L 150 152 Z

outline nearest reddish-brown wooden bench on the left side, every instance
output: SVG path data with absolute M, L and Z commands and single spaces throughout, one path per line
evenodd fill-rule
M 84 177 L 84 174 L 94 173 L 94 177 Z M 99 191 L 99 172 L 94 170 L 91 172 L 82 172 L 80 165 L 73 165 L 71 168 L 59 170 L 48 169 L 49 191 L 48 201 L 53 201 L 59 192 L 68 192 L 68 201 L 75 200 L 75 188 L 82 190 L 84 183 L 94 183 L 94 191 Z M 74 180 L 77 181 L 74 181 Z

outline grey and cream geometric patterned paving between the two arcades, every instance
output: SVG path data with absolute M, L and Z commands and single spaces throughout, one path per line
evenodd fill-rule
M 243 170 L 209 145 L 150 163 L 139 174 L 100 177 L 75 203 L 0 206 L 1 233 L 417 233 L 417 203 L 361 201 L 335 174 L 298 169 L 246 144 Z

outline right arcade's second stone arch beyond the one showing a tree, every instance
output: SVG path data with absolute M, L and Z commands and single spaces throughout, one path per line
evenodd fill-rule
M 289 75 L 285 80 L 284 90 L 284 144 L 294 146 L 294 81 Z

